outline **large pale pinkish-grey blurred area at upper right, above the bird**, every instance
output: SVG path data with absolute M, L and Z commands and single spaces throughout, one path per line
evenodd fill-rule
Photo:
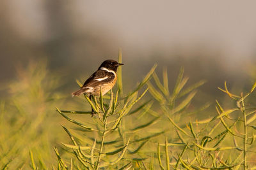
M 255 53 L 255 1 L 91 1 L 89 6 L 89 22 L 132 48 L 203 41 L 225 48 L 230 57 Z

